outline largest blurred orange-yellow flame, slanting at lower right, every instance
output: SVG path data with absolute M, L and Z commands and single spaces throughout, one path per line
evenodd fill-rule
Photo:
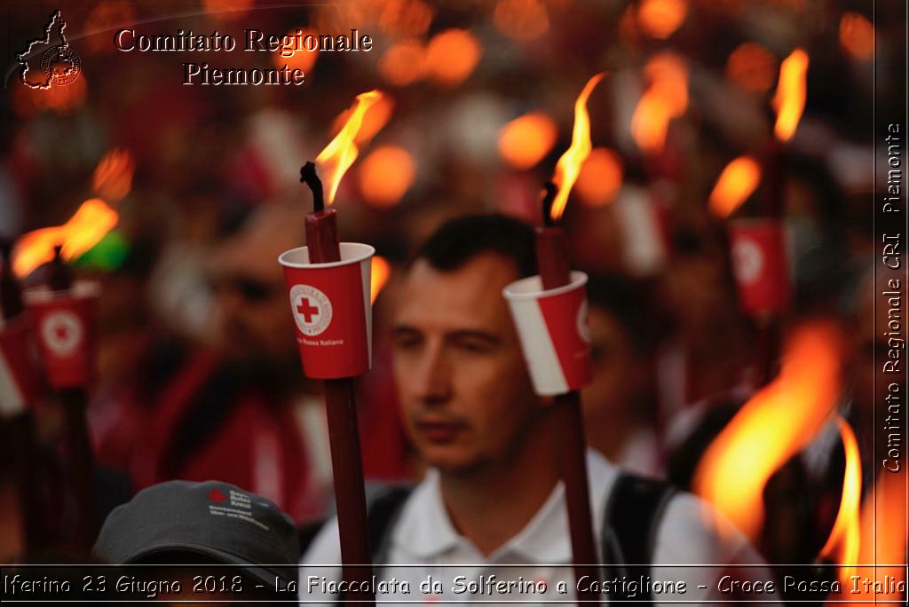
M 764 485 L 814 438 L 833 410 L 840 360 L 840 334 L 832 325 L 797 329 L 777 378 L 744 404 L 698 464 L 694 492 L 753 540 L 764 522 Z

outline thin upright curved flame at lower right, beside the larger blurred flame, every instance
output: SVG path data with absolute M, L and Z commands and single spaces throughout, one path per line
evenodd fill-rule
M 846 468 L 843 479 L 843 497 L 840 500 L 840 510 L 836 513 L 834 528 L 830 537 L 821 549 L 820 555 L 833 557 L 837 562 L 854 565 L 858 559 L 859 548 L 859 505 L 862 501 L 862 463 L 859 459 L 858 442 L 852 426 L 837 416 L 840 427 L 840 436 L 843 437 L 843 446 L 846 452 Z M 836 551 L 836 549 L 839 549 Z M 854 567 L 844 567 L 840 570 L 840 578 L 845 581 L 853 574 Z

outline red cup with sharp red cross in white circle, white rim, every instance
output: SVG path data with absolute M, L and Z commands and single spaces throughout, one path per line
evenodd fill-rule
M 303 373 L 340 379 L 372 365 L 373 311 L 369 299 L 375 249 L 341 243 L 341 261 L 311 264 L 305 246 L 278 257 L 284 266 Z

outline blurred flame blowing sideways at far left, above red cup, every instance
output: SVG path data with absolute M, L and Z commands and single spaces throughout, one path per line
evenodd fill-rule
M 114 229 L 117 212 L 100 198 L 86 200 L 63 225 L 41 228 L 25 234 L 16 242 L 13 271 L 19 276 L 31 274 L 41 264 L 54 259 L 54 247 L 63 245 L 66 260 L 75 259 L 98 244 Z

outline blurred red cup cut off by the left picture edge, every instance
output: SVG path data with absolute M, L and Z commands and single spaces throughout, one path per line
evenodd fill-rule
M 25 314 L 0 320 L 0 416 L 22 413 L 38 388 L 35 350 Z

